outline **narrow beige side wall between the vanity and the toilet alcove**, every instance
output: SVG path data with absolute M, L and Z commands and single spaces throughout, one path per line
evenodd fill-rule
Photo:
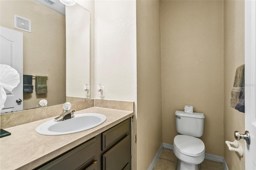
M 132 169 L 146 170 L 162 144 L 160 1 L 136 1 L 136 20 L 137 168 Z

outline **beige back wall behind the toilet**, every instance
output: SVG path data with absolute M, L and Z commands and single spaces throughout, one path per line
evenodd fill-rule
M 173 144 L 176 110 L 204 113 L 206 153 L 224 156 L 223 1 L 162 1 L 163 142 Z

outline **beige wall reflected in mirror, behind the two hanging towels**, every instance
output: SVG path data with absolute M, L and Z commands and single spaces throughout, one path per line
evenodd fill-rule
M 66 100 L 65 17 L 33 0 L 1 0 L 1 26 L 23 33 L 23 73 L 47 75 L 48 93 L 24 94 L 24 109 L 34 108 L 41 99 L 48 105 Z M 38 12 L 43 10 L 43 12 Z M 32 22 L 32 33 L 14 28 L 14 14 Z M 58 46 L 56 46 L 58 44 Z M 35 85 L 33 79 L 33 85 Z M 58 97 L 58 98 L 56 98 Z

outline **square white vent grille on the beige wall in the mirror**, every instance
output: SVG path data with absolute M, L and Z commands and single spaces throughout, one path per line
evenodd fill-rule
M 31 20 L 23 18 L 21 16 L 14 15 L 14 28 L 31 32 Z

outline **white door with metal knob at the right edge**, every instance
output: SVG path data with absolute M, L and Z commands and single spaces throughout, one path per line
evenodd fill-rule
M 245 1 L 245 130 L 250 132 L 250 145 L 245 143 L 245 169 L 256 170 L 256 2 Z

